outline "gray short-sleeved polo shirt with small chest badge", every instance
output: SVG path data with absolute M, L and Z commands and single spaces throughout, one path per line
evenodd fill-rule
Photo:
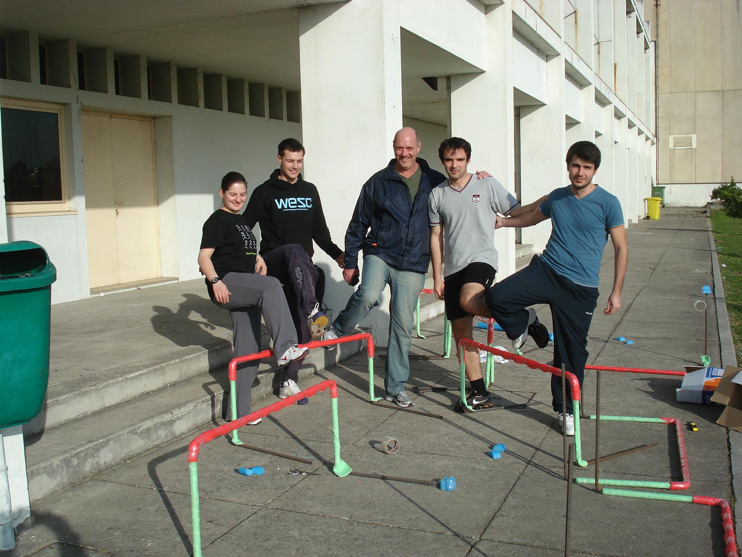
M 439 184 L 428 198 L 431 227 L 443 226 L 445 276 L 451 276 L 471 263 L 497 267 L 494 246 L 496 213 L 508 215 L 518 201 L 493 177 L 478 180 L 471 175 L 462 189 L 450 182 Z

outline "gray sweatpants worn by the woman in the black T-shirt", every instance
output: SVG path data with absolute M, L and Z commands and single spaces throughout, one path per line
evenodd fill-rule
M 297 344 L 294 322 L 278 279 L 254 273 L 227 273 L 222 279 L 229 288 L 229 302 L 219 307 L 229 310 L 232 318 L 232 357 L 260 351 L 260 313 L 273 339 L 273 353 L 280 358 Z M 252 383 L 260 360 L 237 365 L 237 417 L 250 413 Z

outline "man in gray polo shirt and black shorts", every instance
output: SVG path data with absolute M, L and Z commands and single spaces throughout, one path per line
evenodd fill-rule
M 497 213 L 522 215 L 536 209 L 544 200 L 520 206 L 493 177 L 476 180 L 467 172 L 471 146 L 461 137 L 444 140 L 438 155 L 448 180 L 434 188 L 428 200 L 433 290 L 436 297 L 446 304 L 453 338 L 458 345 L 459 340 L 472 338 L 473 315 L 491 316 L 485 304 L 485 290 L 493 283 L 497 271 L 497 250 L 494 247 Z M 445 235 L 442 233 L 444 229 Z M 443 260 L 445 278 L 441 274 Z M 545 346 L 548 331 L 535 317 L 533 313 L 529 333 L 539 339 L 539 346 L 540 342 Z M 476 348 L 467 346 L 464 368 L 471 384 L 467 405 L 474 410 L 492 406 Z M 459 404 L 456 410 L 467 411 L 468 408 Z

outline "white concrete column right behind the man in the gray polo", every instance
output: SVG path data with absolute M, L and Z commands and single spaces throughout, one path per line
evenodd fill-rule
M 471 143 L 470 172 L 487 170 L 515 195 L 512 28 L 509 0 L 490 8 L 485 23 L 487 71 L 451 76 L 450 117 L 451 135 Z M 497 230 L 494 244 L 499 254 L 497 279 L 502 280 L 515 271 L 515 229 Z

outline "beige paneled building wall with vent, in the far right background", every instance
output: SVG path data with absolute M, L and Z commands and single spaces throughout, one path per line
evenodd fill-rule
M 657 178 L 666 203 L 702 206 L 742 177 L 742 4 L 654 0 Z

